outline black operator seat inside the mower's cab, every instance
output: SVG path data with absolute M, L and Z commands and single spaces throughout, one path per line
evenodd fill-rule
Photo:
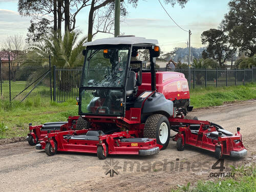
M 126 85 L 126 101 L 132 101 L 135 99 L 135 96 L 138 91 L 136 73 L 134 71 L 130 72 L 130 77 L 127 78 Z

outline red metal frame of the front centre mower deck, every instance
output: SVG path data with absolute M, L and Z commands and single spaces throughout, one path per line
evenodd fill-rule
M 96 154 L 99 145 L 103 147 L 104 153 L 106 153 L 107 145 L 108 154 L 139 155 L 141 150 L 152 150 L 155 147 L 161 149 L 162 147 L 162 145 L 156 143 L 156 139 L 151 139 L 146 142 L 121 142 L 120 139 L 115 139 L 119 137 L 134 138 L 131 137 L 131 135 L 136 134 L 135 131 L 100 135 L 99 140 L 65 139 L 63 137 L 65 135 L 86 134 L 88 131 L 92 131 L 92 129 L 49 133 L 47 141 L 40 142 L 41 149 L 45 149 L 47 142 L 50 142 L 54 152 L 56 150 L 54 142 L 56 142 L 57 151 Z

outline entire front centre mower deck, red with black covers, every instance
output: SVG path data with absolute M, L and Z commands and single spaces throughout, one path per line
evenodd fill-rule
M 102 146 L 104 154 L 110 155 L 145 156 L 159 153 L 162 146 L 156 143 L 156 139 L 133 138 L 131 137 L 132 134 L 134 134 L 134 131 L 105 135 L 101 131 L 93 131 L 90 129 L 48 133 L 48 139 L 37 144 L 36 149 L 48 150 L 47 143 L 51 143 L 51 155 L 54 155 L 56 151 L 92 153 L 98 155 L 99 146 Z M 55 148 L 55 146 L 57 148 Z

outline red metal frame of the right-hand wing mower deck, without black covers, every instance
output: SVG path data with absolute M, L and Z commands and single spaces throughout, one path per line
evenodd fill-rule
M 197 121 L 197 120 L 188 120 L 188 121 Z M 234 136 L 218 136 L 218 139 L 213 139 L 207 137 L 207 134 L 211 132 L 216 132 L 217 129 L 215 126 L 210 125 L 210 122 L 198 121 L 200 128 L 198 130 L 198 134 L 193 134 L 190 130 L 190 125 L 180 126 L 179 132 L 176 134 L 174 141 L 177 141 L 179 138 L 182 138 L 183 146 L 185 144 L 196 146 L 199 148 L 203 148 L 204 150 L 208 150 L 211 152 L 216 151 L 216 147 L 221 148 L 221 156 L 228 155 L 233 157 L 243 157 L 246 155 L 246 149 L 242 142 L 242 135 L 240 133 L 240 129 L 238 129 L 237 133 Z M 205 125 L 208 125 L 207 129 L 203 129 Z M 235 142 L 237 141 L 237 142 Z

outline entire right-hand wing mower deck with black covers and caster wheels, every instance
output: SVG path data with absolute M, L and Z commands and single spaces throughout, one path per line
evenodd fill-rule
M 217 159 L 223 155 L 244 157 L 247 153 L 242 142 L 240 127 L 237 128 L 237 133 L 233 135 L 215 123 L 187 120 L 186 123 L 174 125 L 173 130 L 178 132 L 173 139 L 177 141 L 178 151 L 183 151 L 185 144 L 188 144 L 214 152 Z

